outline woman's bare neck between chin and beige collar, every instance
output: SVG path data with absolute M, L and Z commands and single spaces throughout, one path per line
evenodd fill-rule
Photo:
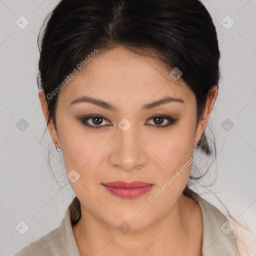
M 200 207 L 184 194 L 160 219 L 143 229 L 123 233 L 82 205 L 81 218 L 72 228 L 81 256 L 201 255 Z

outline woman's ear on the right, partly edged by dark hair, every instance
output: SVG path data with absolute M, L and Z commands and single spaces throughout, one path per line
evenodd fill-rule
M 204 131 L 204 129 L 207 125 L 211 110 L 213 108 L 213 105 L 214 105 L 214 102 L 215 102 L 215 99 L 217 96 L 217 93 L 218 93 L 217 86 L 212 85 L 210 88 L 208 97 L 207 97 L 205 108 L 204 108 L 204 110 L 201 114 L 201 117 L 198 121 L 198 124 L 197 124 L 195 141 L 194 141 L 195 145 L 196 145 L 196 141 L 201 138 L 202 132 Z

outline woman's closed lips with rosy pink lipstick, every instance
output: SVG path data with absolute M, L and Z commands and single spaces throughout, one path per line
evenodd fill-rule
M 141 181 L 113 181 L 102 183 L 102 185 L 112 194 L 126 199 L 137 198 L 148 192 L 153 184 Z

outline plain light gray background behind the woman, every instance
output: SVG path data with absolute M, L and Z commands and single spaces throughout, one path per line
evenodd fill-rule
M 13 255 L 57 227 L 74 196 L 59 164 L 61 152 L 56 152 L 48 131 L 42 137 L 46 124 L 35 80 L 36 36 L 57 2 L 0 0 L 0 255 Z M 202 2 L 216 25 L 222 79 L 209 120 L 218 156 L 201 183 L 215 177 L 217 181 L 205 189 L 197 187 L 221 211 L 214 194 L 238 221 L 246 221 L 253 234 L 242 236 L 236 226 L 234 230 L 247 250 L 243 255 L 256 255 L 256 1 Z M 15 23 L 21 15 L 29 21 L 24 29 Z M 228 29 L 227 15 L 234 21 Z M 23 130 L 21 118 L 28 123 Z M 48 151 L 58 184 L 47 166 Z M 29 226 L 23 235 L 15 229 L 21 220 Z

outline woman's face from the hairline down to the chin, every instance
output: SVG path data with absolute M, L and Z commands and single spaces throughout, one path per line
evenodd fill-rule
M 84 210 L 115 228 L 126 221 L 141 229 L 174 207 L 204 128 L 196 126 L 195 96 L 184 85 L 155 59 L 117 47 L 59 91 L 57 131 L 49 130 Z M 113 108 L 77 100 L 83 96 Z M 151 104 L 166 97 L 178 100 Z M 130 198 L 125 188 L 113 188 L 116 195 L 103 185 L 119 180 L 152 185 L 130 189 Z

